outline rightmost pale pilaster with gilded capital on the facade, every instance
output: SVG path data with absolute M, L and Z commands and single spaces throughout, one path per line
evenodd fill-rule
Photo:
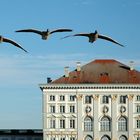
M 133 96 L 128 95 L 128 139 L 133 140 Z

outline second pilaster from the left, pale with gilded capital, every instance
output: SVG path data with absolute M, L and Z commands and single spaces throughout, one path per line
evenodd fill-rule
M 98 102 L 99 102 L 99 95 L 93 95 L 93 117 L 94 117 L 94 121 L 93 121 L 93 133 L 94 133 L 94 140 L 99 140 L 99 122 L 98 122 L 98 114 L 99 114 L 99 106 L 98 106 Z

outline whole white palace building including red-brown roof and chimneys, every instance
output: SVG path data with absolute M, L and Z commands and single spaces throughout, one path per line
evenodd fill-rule
M 94 60 L 48 83 L 44 140 L 140 140 L 140 72 L 116 60 Z

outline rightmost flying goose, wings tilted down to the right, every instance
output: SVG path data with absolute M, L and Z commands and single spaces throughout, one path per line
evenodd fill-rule
M 64 37 L 64 38 L 67 38 L 67 37 L 70 37 L 70 36 L 85 36 L 85 37 L 88 37 L 90 43 L 93 43 L 93 42 L 96 41 L 98 38 L 99 38 L 99 39 L 104 39 L 104 40 L 107 40 L 107 41 L 111 41 L 111 42 L 113 42 L 113 43 L 115 43 L 115 44 L 118 44 L 118 45 L 120 45 L 121 47 L 124 47 L 124 45 L 118 43 L 117 41 L 113 40 L 112 38 L 107 37 L 107 36 L 104 36 L 104 35 L 98 34 L 97 30 L 95 30 L 94 33 L 79 33 L 79 34 L 69 35 L 69 36 L 66 36 L 66 37 Z

